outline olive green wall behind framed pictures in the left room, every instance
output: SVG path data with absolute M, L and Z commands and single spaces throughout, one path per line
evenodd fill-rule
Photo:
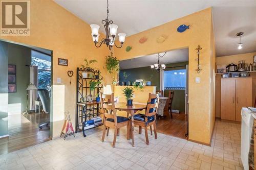
M 22 45 L 8 43 L 8 63 L 16 65 L 16 93 L 9 93 L 9 104 L 21 104 L 21 113 L 26 111 L 27 87 L 29 85 L 31 49 Z

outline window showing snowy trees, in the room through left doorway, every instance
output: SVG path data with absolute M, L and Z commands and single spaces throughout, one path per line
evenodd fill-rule
M 51 90 L 51 57 L 32 51 L 31 64 L 38 66 L 38 88 Z M 36 56 L 36 57 L 34 57 Z M 47 56 L 47 57 L 46 57 Z M 50 60 L 50 61 L 49 61 Z

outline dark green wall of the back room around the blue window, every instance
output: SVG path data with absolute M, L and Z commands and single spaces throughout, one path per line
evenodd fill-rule
M 185 65 L 188 62 L 180 62 L 180 63 L 172 63 L 166 64 L 165 70 L 175 70 L 175 69 L 185 69 Z M 167 68 L 172 67 L 172 68 Z M 133 69 L 123 69 L 119 71 L 119 82 L 120 85 L 124 82 L 123 72 L 126 74 L 131 74 L 125 82 L 135 81 L 136 79 L 144 79 L 145 81 L 151 81 L 153 86 L 157 86 L 156 90 L 159 90 L 160 86 L 160 74 L 159 72 L 152 70 L 150 66 L 148 67 L 140 67 Z M 150 79 L 151 75 L 153 75 L 152 79 Z M 180 112 L 185 112 L 185 90 L 172 90 L 174 91 L 174 100 L 172 104 L 172 109 L 180 110 Z M 164 91 L 164 96 L 168 96 L 168 90 Z

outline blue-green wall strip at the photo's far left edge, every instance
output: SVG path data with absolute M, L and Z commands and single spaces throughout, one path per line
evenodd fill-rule
M 8 44 L 0 41 L 0 136 L 8 135 Z

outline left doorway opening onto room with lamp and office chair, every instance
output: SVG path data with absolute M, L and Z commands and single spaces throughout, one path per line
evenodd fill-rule
M 7 74 L 8 102 L 2 155 L 51 140 L 52 51 L 2 40 L 0 46 L 7 58 L 1 74 Z

